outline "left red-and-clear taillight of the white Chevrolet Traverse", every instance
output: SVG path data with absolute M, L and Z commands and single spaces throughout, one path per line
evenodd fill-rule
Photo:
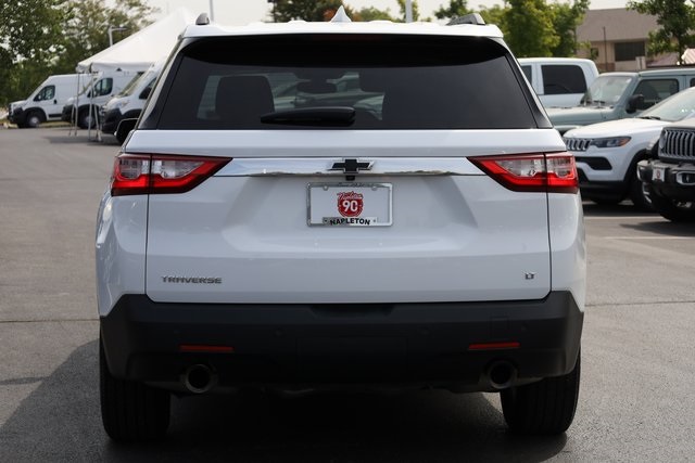
M 111 195 L 185 193 L 212 177 L 228 157 L 119 154 L 111 177 Z

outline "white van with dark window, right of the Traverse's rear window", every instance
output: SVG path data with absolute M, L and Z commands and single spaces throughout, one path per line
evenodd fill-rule
M 520 57 L 519 64 L 545 107 L 572 107 L 598 76 L 591 60 Z

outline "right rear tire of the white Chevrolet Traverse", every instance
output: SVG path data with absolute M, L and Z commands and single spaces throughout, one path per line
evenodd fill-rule
M 566 375 L 546 377 L 500 393 L 509 430 L 519 434 L 560 434 L 574 419 L 579 397 L 580 357 Z

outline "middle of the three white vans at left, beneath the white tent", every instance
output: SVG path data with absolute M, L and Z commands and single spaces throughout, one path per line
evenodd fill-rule
M 81 129 L 96 127 L 99 108 L 138 79 L 144 70 L 104 72 L 99 74 L 93 86 L 85 86 L 77 97 L 74 97 L 75 89 L 73 89 L 73 98 L 63 106 L 62 119 L 67 123 L 76 120 Z

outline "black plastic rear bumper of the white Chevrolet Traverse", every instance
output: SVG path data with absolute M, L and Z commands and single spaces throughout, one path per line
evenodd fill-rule
M 516 370 L 511 384 L 570 372 L 582 323 L 569 292 L 531 301 L 328 306 L 161 304 L 127 295 L 101 318 L 101 336 L 115 376 L 162 385 L 202 363 L 219 386 L 472 391 L 494 390 L 489 370 L 500 361 Z

